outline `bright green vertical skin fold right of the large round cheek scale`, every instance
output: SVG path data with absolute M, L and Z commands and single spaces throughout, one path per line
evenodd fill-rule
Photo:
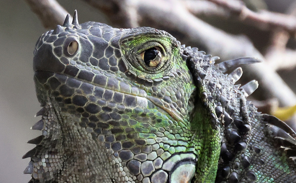
M 220 157 L 220 131 L 210 125 L 210 116 L 198 101 L 195 105 L 191 129 L 195 133 L 193 143 L 197 153 L 195 181 L 197 183 L 214 183 Z

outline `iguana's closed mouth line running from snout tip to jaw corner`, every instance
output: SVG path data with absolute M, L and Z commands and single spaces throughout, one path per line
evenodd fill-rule
M 54 76 L 54 75 L 65 76 L 65 77 L 69 77 L 69 78 L 74 79 L 74 80 L 78 80 L 80 82 L 84 82 L 84 83 L 88 83 L 90 85 L 94 85 L 94 86 L 102 88 L 102 89 L 111 90 L 111 91 L 115 91 L 115 92 L 124 93 L 124 94 L 127 94 L 127 95 L 136 96 L 137 97 L 137 106 L 142 107 L 142 108 L 146 108 L 148 106 L 147 101 L 145 101 L 145 100 L 149 100 L 154 105 L 156 105 L 157 107 L 159 107 L 162 110 L 164 110 L 165 112 L 167 112 L 174 120 L 184 122 L 184 120 L 183 120 L 184 116 L 182 114 L 177 113 L 176 112 L 177 109 L 171 108 L 171 107 L 166 107 L 164 102 L 161 101 L 159 98 L 148 95 L 147 92 L 144 91 L 143 89 L 139 89 L 139 88 L 137 88 L 137 87 L 135 87 L 135 86 L 133 86 L 131 84 L 128 84 L 128 83 L 124 82 L 124 81 L 119 81 L 116 78 L 114 78 L 116 81 L 124 83 L 125 86 L 131 86 L 131 90 L 130 91 L 127 91 L 126 89 L 125 90 L 120 90 L 120 89 L 119 90 L 114 90 L 114 89 L 107 86 L 108 85 L 107 82 L 106 82 L 105 86 L 100 86 L 100 85 L 97 85 L 94 82 L 85 81 L 85 80 L 79 79 L 77 77 L 69 76 L 69 75 L 64 74 L 64 73 L 61 74 L 61 73 L 55 73 L 55 72 L 51 72 L 51 71 L 42 71 L 42 70 L 41 71 L 37 70 L 37 71 L 35 71 L 35 74 L 36 73 L 50 73 L 50 74 L 53 74 L 52 76 Z M 107 81 L 108 81 L 108 79 L 107 79 Z M 46 81 L 45 83 L 47 83 L 47 82 L 48 81 Z

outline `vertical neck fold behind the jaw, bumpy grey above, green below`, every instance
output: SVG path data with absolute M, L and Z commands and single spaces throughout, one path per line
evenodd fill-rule
M 215 107 L 218 97 L 213 80 L 216 75 L 215 57 L 205 55 L 204 52 L 190 47 L 184 48 L 187 66 L 192 74 L 196 89 L 193 94 L 194 109 L 190 113 L 191 131 L 194 133 L 192 143 L 197 154 L 196 174 L 194 183 L 214 183 L 220 158 L 220 147 L 223 135 L 221 123 L 223 118 L 217 116 Z M 216 76 L 215 76 L 216 77 Z M 216 102 L 216 103 L 215 103 Z M 222 130 L 221 130 L 222 129 Z

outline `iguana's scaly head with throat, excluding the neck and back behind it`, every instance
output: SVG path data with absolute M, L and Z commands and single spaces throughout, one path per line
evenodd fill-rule
M 34 51 L 42 135 L 25 173 L 54 182 L 189 182 L 195 86 L 183 48 L 165 31 L 106 24 L 44 33 Z

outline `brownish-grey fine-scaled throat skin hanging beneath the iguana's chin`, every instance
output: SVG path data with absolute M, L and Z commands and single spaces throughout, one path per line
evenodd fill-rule
M 62 82 L 65 79 L 62 75 L 50 74 L 55 76 L 57 81 Z M 73 107 L 65 107 L 65 103 L 57 101 L 48 90 L 49 85 L 40 84 L 37 77 L 38 73 L 34 78 L 37 96 L 46 108 L 42 116 L 46 121 L 43 135 L 46 135 L 45 140 L 48 142 L 44 148 L 49 147 L 49 149 L 44 157 L 48 153 L 47 161 L 54 163 L 50 166 L 55 173 L 53 180 L 62 183 L 75 175 L 72 178 L 73 182 L 112 183 L 114 164 L 112 165 L 112 161 L 106 156 L 107 154 L 111 156 L 112 153 L 105 147 L 104 138 L 93 135 L 91 132 L 94 132 L 94 129 L 86 126 L 82 115 L 74 111 Z M 98 133 L 98 129 L 95 130 Z M 111 132 L 105 133 L 111 134 Z

